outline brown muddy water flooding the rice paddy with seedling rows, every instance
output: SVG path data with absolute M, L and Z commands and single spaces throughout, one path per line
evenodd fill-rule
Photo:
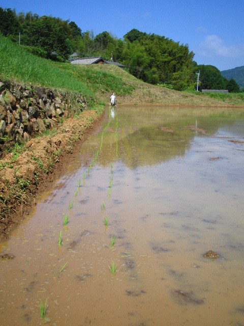
M 239 110 L 110 112 L 1 244 L 0 324 L 244 325 L 243 137 Z

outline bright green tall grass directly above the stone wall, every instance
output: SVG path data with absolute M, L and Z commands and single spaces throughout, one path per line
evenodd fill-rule
M 0 78 L 20 83 L 41 85 L 79 92 L 87 98 L 95 95 L 69 72 L 54 66 L 51 61 L 36 57 L 0 35 Z

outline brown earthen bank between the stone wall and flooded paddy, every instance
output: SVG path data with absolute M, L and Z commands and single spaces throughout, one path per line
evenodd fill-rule
M 62 173 L 100 117 L 95 111 L 83 111 L 52 129 L 50 135 L 33 138 L 0 160 L 0 241 L 35 205 L 36 194 Z

